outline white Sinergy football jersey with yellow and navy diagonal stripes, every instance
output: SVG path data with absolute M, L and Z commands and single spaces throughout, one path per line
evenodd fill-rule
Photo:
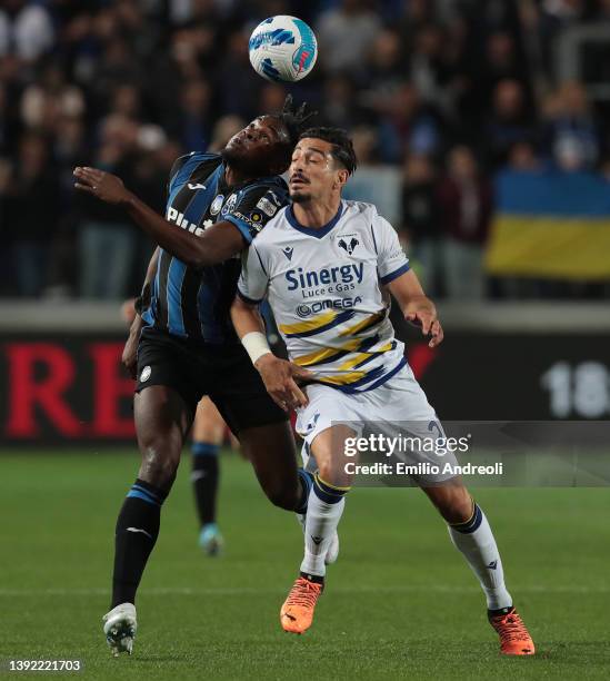
M 342 200 L 324 227 L 282 208 L 244 255 L 239 295 L 268 298 L 290 359 L 316 381 L 369 391 L 404 364 L 389 316 L 389 284 L 409 269 L 398 235 L 371 204 Z

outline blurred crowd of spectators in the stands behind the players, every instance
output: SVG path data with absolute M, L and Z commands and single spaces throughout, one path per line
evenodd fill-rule
M 388 178 L 369 194 L 391 188 L 430 293 L 597 295 L 587 283 L 502 286 L 481 258 L 501 168 L 610 177 L 606 100 L 586 82 L 608 81 L 610 59 L 593 52 L 578 80 L 557 58 L 571 27 L 607 26 L 610 38 L 610 0 L 3 0 L 0 295 L 137 293 L 151 244 L 77 195 L 73 166 L 119 175 L 162 211 L 179 155 L 219 150 L 281 108 L 287 90 L 251 70 L 248 36 L 282 13 L 308 21 L 320 47 L 290 90 L 352 132 L 357 176 Z

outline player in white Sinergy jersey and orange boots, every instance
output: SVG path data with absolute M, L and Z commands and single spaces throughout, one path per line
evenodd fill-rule
M 344 453 L 346 441 L 361 432 L 354 424 L 408 422 L 413 435 L 444 437 L 402 343 L 394 338 L 388 290 L 404 317 L 421 325 L 431 347 L 443 336 L 436 307 L 409 268 L 391 225 L 374 206 L 341 199 L 354 169 L 356 155 L 344 131 L 313 128 L 301 136 L 289 169 L 291 205 L 279 209 L 251 245 L 231 310 L 270 395 L 283 408 L 297 408 L 297 431 L 318 465 L 300 575 L 280 612 L 282 628 L 294 633 L 311 625 L 322 593 L 324 555 L 351 485 Z M 266 297 L 290 362 L 276 357 L 267 345 L 257 310 Z M 410 456 L 424 461 L 434 454 Z M 533 654 L 481 509 L 459 477 L 423 475 L 417 482 L 479 579 L 501 651 Z

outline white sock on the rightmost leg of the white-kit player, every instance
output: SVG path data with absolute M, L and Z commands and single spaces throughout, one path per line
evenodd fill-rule
M 488 609 L 510 608 L 512 598 L 504 585 L 500 553 L 487 517 L 477 504 L 468 522 L 449 525 L 449 536 L 477 575 L 486 594 Z

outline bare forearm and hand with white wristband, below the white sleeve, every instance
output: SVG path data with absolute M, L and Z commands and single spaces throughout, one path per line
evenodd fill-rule
M 231 319 L 273 402 L 284 411 L 306 406 L 307 395 L 297 385 L 296 379 L 310 381 L 312 376 L 300 366 L 273 355 L 256 305 L 250 305 L 237 296 L 231 307 Z

